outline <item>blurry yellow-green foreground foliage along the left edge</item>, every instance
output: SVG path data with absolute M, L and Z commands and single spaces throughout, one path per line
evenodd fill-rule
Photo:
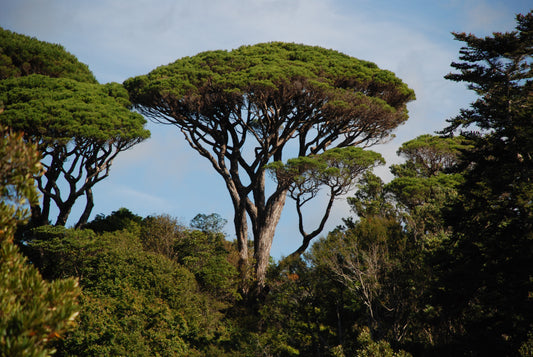
M 21 134 L 1 128 L 0 136 L 0 355 L 49 356 L 50 341 L 63 338 L 78 314 L 80 290 L 74 279 L 46 282 L 13 244 L 24 206 L 37 199 L 33 175 L 39 154 Z

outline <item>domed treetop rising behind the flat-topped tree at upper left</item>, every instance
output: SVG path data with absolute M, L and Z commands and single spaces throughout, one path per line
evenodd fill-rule
M 0 27 L 0 80 L 30 74 L 96 83 L 87 65 L 61 45 L 39 41 Z

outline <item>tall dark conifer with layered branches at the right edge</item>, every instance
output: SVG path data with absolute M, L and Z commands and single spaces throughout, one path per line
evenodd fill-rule
M 474 145 L 436 260 L 434 302 L 453 326 L 443 348 L 456 355 L 516 355 L 533 320 L 533 12 L 517 23 L 485 38 L 455 34 L 465 46 L 447 76 L 480 96 L 445 130 Z

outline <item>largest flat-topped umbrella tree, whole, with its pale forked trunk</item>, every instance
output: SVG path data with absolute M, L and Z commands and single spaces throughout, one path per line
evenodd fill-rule
M 265 165 L 318 155 L 333 147 L 367 147 L 407 119 L 414 93 L 392 72 L 334 50 L 263 43 L 179 59 L 124 82 L 152 119 L 176 125 L 223 177 L 247 264 L 252 224 L 261 285 L 275 227 L 289 189 L 268 196 Z

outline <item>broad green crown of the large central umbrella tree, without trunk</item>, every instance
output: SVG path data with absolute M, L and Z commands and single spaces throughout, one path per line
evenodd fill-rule
M 281 42 L 203 52 L 124 84 L 145 114 L 189 124 L 185 117 L 194 117 L 195 124 L 206 125 L 197 128 L 203 131 L 216 125 L 226 130 L 218 120 L 225 117 L 245 122 L 242 132 L 258 138 L 289 137 L 312 125 L 335 133 L 328 137 L 321 131 L 323 141 L 307 138 L 309 146 L 300 148 L 299 156 L 323 151 L 338 137 L 347 139 L 345 145 L 379 141 L 407 120 L 406 103 L 414 99 L 406 84 L 374 63 Z M 243 110 L 248 117 L 241 117 Z M 308 150 L 313 145 L 316 149 Z

